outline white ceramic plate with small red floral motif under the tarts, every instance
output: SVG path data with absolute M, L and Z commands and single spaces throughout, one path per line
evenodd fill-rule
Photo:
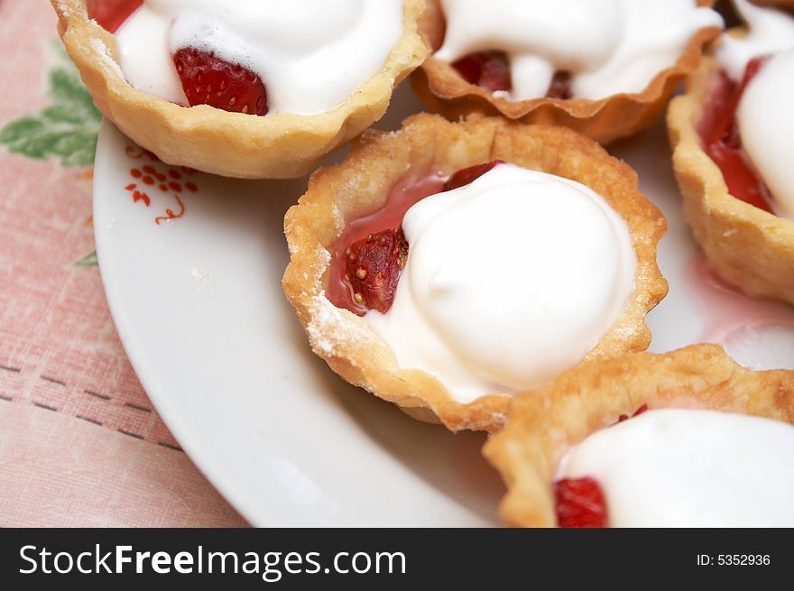
M 418 110 L 403 86 L 377 126 L 396 129 Z M 156 174 L 166 185 L 177 180 L 127 146 L 134 147 L 113 125 L 102 126 L 94 220 L 107 300 L 152 402 L 228 501 L 257 526 L 498 524 L 503 488 L 480 456 L 483 434 L 411 420 L 311 354 L 281 287 L 282 218 L 306 180 L 179 171 L 184 215 L 158 225 L 155 217 L 181 207 Z M 714 337 L 745 363 L 794 366 L 789 309 L 748 303 L 704 280 L 663 128 L 614 153 L 640 173 L 643 191 L 669 219 L 660 266 L 670 293 L 649 320 L 653 350 Z M 142 189 L 148 207 L 134 201 Z

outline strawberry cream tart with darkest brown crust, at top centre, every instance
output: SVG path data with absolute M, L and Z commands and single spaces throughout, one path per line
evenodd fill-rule
M 651 125 L 722 27 L 713 2 L 430 0 L 430 109 L 566 125 L 609 143 Z

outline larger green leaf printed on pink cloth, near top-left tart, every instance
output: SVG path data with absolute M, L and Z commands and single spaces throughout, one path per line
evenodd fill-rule
M 5 125 L 0 144 L 28 158 L 56 157 L 62 166 L 86 168 L 94 163 L 102 115 L 60 43 L 57 51 L 48 75 L 52 105 Z

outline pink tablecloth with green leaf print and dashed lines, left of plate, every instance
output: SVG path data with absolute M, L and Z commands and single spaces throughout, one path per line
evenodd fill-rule
M 99 117 L 47 0 L 0 0 L 0 526 L 240 526 L 118 340 L 94 255 Z

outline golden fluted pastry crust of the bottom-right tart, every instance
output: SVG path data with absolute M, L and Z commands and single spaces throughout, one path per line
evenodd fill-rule
M 736 364 L 720 346 L 696 345 L 666 355 L 638 353 L 583 364 L 546 388 L 519 394 L 507 427 L 483 452 L 508 488 L 500 506 L 504 522 L 555 527 L 552 487 L 561 458 L 643 404 L 794 423 L 794 372 L 754 372 Z

